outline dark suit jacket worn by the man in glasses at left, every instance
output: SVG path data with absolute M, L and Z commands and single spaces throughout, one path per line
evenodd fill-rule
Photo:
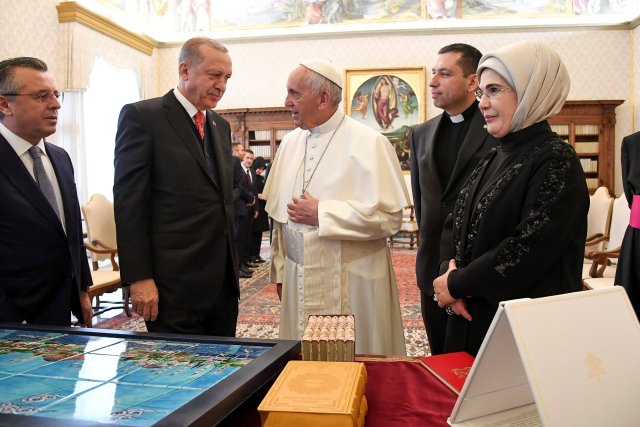
M 30 321 L 38 312 L 49 312 L 63 320 L 66 316 L 68 326 L 71 311 L 82 319 L 79 290 L 92 284 L 91 271 L 71 159 L 60 147 L 47 142 L 45 147 L 62 195 L 66 234 L 24 163 L 0 135 L 0 319 Z

